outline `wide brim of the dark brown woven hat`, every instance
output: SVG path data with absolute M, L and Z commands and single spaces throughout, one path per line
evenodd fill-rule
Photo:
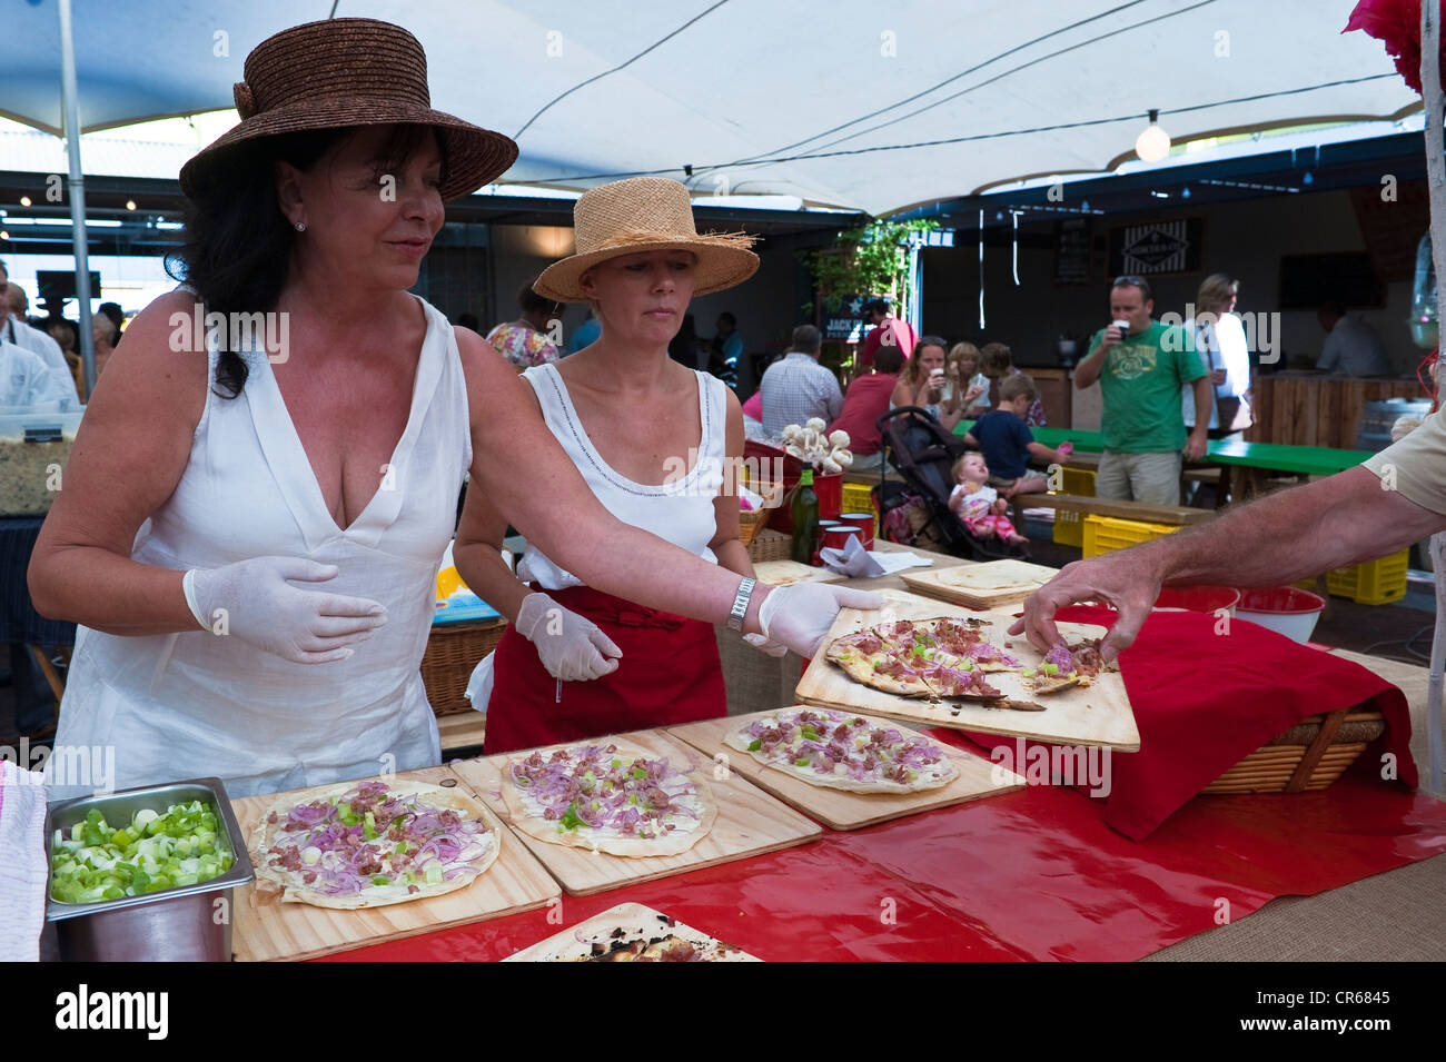
M 508 170 L 518 157 L 518 144 L 502 133 L 474 126 L 429 107 L 408 103 L 356 98 L 304 100 L 253 114 L 217 137 L 181 168 L 181 191 L 194 197 L 210 184 L 217 168 L 226 166 L 243 144 L 282 133 L 390 124 L 432 126 L 447 152 L 444 202 L 470 195 Z

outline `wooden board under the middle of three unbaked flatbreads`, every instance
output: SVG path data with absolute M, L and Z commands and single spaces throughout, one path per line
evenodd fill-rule
M 625 884 L 652 881 L 698 867 L 711 867 L 716 863 L 730 863 L 748 855 L 790 848 L 813 841 L 823 834 L 816 824 L 749 785 L 737 772 L 716 770 L 711 760 L 700 756 L 690 746 L 669 738 L 661 730 L 639 730 L 599 740 L 613 740 L 652 756 L 667 757 L 684 772 L 688 770 L 688 764 L 693 764 L 696 770 L 703 772 L 703 780 L 713 789 L 719 813 L 707 835 L 688 851 L 651 858 L 629 858 L 571 845 L 548 844 L 513 831 L 513 835 L 542 861 L 552 877 L 561 881 L 562 887 L 573 896 L 591 896 Z M 548 753 L 558 747 L 561 746 L 549 746 L 536 751 Z M 508 805 L 502 799 L 503 769 L 509 759 L 531 754 L 531 751 L 461 760 L 451 766 L 483 802 L 510 824 Z M 724 777 L 720 779 L 717 774 L 724 774 Z

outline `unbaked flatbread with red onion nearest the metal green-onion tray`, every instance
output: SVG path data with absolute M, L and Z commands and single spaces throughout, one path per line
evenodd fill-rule
M 273 803 L 252 835 L 257 894 L 317 907 L 377 907 L 471 884 L 502 851 L 502 824 L 457 789 L 341 782 Z

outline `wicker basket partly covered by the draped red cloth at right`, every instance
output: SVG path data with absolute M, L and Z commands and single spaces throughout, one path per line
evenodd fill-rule
M 1385 733 L 1381 712 L 1312 715 L 1267 741 L 1202 793 L 1303 793 L 1325 789 Z

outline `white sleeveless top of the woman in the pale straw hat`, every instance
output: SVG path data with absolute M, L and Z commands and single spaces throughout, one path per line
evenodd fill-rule
M 723 459 L 727 454 L 727 390 L 714 376 L 697 371 L 694 376 L 698 380 L 701 438 L 694 445 L 694 452 L 669 458 L 671 464 L 662 470 L 668 483 L 662 485 L 635 483 L 603 461 L 583 431 L 583 420 L 577 416 L 562 374 L 555 366 L 534 366 L 522 379 L 532 384 L 547 426 L 609 513 L 717 564 L 709 543 L 717 535 L 713 498 L 723 485 Z M 536 582 L 544 590 L 583 585 L 581 579 L 531 545 L 518 565 L 518 578 Z

